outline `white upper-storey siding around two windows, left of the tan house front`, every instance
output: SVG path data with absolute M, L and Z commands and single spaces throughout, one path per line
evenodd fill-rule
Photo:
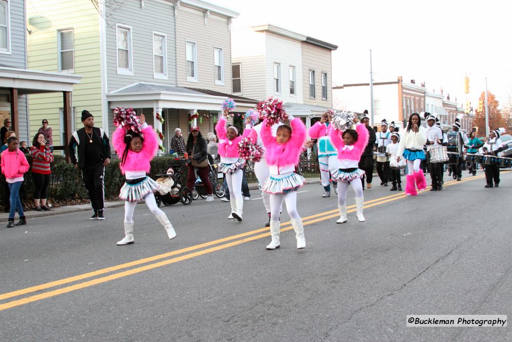
M 303 103 L 303 74 L 301 42 L 280 35 L 265 33 L 266 93 L 284 102 Z M 281 93 L 274 93 L 274 63 L 281 64 Z M 295 67 L 295 95 L 290 95 L 289 67 Z

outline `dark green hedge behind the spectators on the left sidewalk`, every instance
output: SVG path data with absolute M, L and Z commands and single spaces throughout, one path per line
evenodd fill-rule
M 26 154 L 27 160 L 32 165 L 32 156 Z M 155 179 L 155 175 L 165 173 L 168 166 L 172 163 L 172 156 L 158 156 L 151 161 L 150 176 Z M 51 164 L 52 175 L 50 185 L 48 186 L 48 198 L 51 203 L 61 201 L 83 200 L 89 198 L 87 190 L 83 186 L 80 172 L 72 164 L 67 164 L 65 157 L 61 155 L 54 156 L 54 162 Z M 186 177 L 186 176 L 185 176 Z M 29 170 L 24 175 L 25 206 L 30 207 L 34 194 L 34 181 L 32 171 Z M 5 179 L 5 178 L 3 178 Z M 124 176 L 119 169 L 119 159 L 112 159 L 110 164 L 105 167 L 105 199 L 116 199 L 119 190 L 124 184 Z M 0 199 L 3 202 L 4 186 L 0 186 Z M 3 207 L 3 206 L 2 206 Z M 4 208 L 2 208 L 4 209 Z

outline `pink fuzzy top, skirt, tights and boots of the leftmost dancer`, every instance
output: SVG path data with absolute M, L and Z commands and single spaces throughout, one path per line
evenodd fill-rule
M 162 224 L 167 232 L 169 239 L 176 237 L 173 225 L 170 224 L 167 215 L 160 210 L 156 204 L 153 192 L 158 190 L 159 185 L 146 173 L 150 172 L 151 159 L 156 155 L 158 149 L 157 135 L 151 126 L 146 123 L 142 125 L 142 150 L 135 152 L 130 149 L 130 143 L 124 142 L 126 134 L 125 129 L 119 126 L 112 136 L 112 144 L 117 155 L 125 156 L 124 163 L 121 162 L 119 167 L 121 173 L 126 177 L 126 183 L 121 188 L 119 197 L 124 199 L 124 238 L 120 240 L 118 245 L 128 245 L 134 243 L 133 237 L 133 213 L 135 206 L 139 200 L 144 199 L 147 208 L 155 214 L 158 221 Z M 138 136 L 138 135 L 137 135 Z

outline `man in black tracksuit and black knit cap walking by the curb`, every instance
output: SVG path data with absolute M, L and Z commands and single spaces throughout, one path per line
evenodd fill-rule
M 103 176 L 110 163 L 110 141 L 102 129 L 94 127 L 94 116 L 82 111 L 83 128 L 73 132 L 68 150 L 75 168 L 82 171 L 83 183 L 89 193 L 94 214 L 91 219 L 105 219 Z M 78 148 L 78 161 L 75 150 Z

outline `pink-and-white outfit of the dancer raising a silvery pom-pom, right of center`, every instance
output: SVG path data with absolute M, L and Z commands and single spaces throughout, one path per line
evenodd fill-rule
M 336 223 L 347 222 L 347 191 L 349 185 L 352 186 L 355 192 L 355 203 L 357 207 L 357 220 L 359 222 L 365 222 L 365 217 L 362 215 L 362 206 L 365 202 L 364 195 L 362 193 L 362 183 L 359 178 L 365 175 L 365 171 L 358 168 L 359 159 L 362 154 L 365 153 L 370 133 L 365 125 L 357 123 L 355 130 L 357 132 L 357 140 L 354 145 L 345 145 L 343 142 L 343 132 L 329 127 L 329 135 L 331 136 L 332 143 L 338 150 L 338 164 L 339 169 L 336 173 L 338 178 L 338 209 L 339 219 Z M 350 133 L 347 133 L 350 134 Z M 355 137 L 354 137 L 355 138 Z M 356 179 L 355 182 L 351 182 Z

